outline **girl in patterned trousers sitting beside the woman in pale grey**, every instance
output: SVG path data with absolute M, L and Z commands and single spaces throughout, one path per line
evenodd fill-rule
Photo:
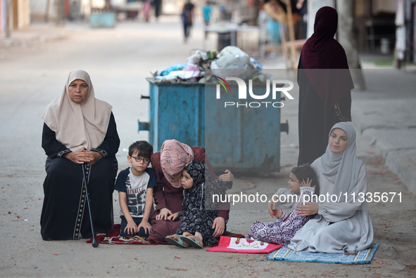
M 295 233 L 315 216 L 300 216 L 296 211 L 296 206 L 301 205 L 303 201 L 315 201 L 312 199 L 314 190 L 308 187 L 314 187 L 315 194 L 319 194 L 319 184 L 313 168 L 309 164 L 292 168 L 287 183 L 290 192 L 286 188 L 279 189 L 268 205 L 270 216 L 277 218 L 277 221 L 274 223 L 256 221 L 251 225 L 247 238 L 287 245 Z M 305 197 L 305 194 L 309 197 Z M 284 209 L 291 208 L 290 213 L 285 213 L 281 208 L 276 209 L 277 204 Z

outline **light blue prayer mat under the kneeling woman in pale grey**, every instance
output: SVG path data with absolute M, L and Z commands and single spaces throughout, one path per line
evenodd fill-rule
M 370 263 L 379 244 L 372 244 L 372 247 L 356 254 L 343 253 L 313 253 L 306 251 L 294 251 L 286 246 L 273 251 L 267 256 L 267 260 L 284 260 L 285 262 L 308 262 L 308 263 L 343 263 L 346 265 L 358 265 Z

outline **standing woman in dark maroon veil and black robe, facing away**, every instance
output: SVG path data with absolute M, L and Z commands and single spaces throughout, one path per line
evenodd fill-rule
M 334 124 L 351 121 L 351 89 L 354 85 L 346 53 L 334 39 L 337 26 L 336 10 L 320 8 L 315 16 L 314 33 L 301 51 L 298 165 L 311 164 L 324 154 Z

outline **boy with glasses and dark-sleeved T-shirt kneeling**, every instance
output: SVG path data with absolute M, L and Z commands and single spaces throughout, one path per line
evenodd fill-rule
M 129 147 L 127 161 L 132 167 L 121 171 L 114 189 L 120 199 L 120 237 L 148 237 L 149 216 L 153 209 L 153 187 L 158 186 L 152 168 L 148 168 L 153 147 L 147 141 L 137 141 Z

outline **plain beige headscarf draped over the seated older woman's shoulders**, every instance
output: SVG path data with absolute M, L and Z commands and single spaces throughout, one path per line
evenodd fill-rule
M 75 79 L 88 85 L 87 99 L 82 103 L 70 100 L 68 87 Z M 75 152 L 85 147 L 92 150 L 99 147 L 106 137 L 111 116 L 111 105 L 97 100 L 94 87 L 87 72 L 76 69 L 70 72 L 61 95 L 46 107 L 42 119 L 56 133 L 56 140 Z

